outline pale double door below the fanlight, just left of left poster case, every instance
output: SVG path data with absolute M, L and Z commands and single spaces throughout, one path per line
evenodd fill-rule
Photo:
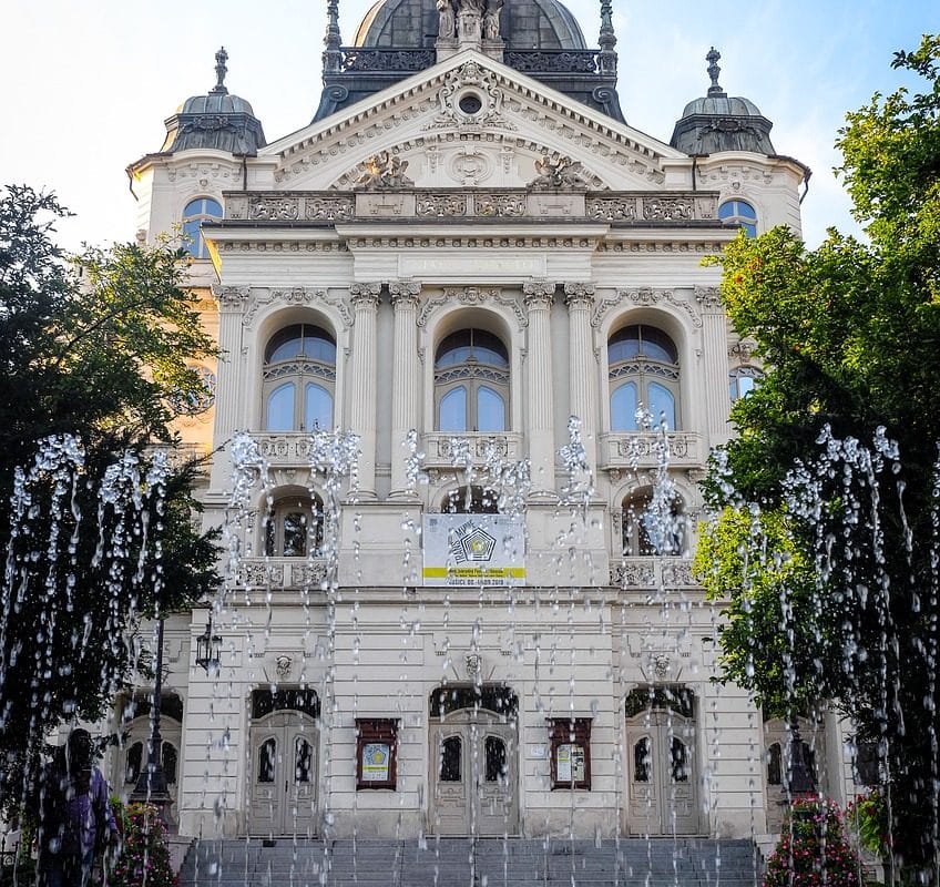
M 275 712 L 253 724 L 253 834 L 314 834 L 318 740 L 314 720 L 297 711 Z

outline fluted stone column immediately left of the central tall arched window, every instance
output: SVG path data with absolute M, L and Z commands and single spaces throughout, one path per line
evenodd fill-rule
M 408 495 L 405 471 L 405 436 L 418 427 L 418 295 L 415 281 L 388 285 L 395 308 L 395 345 L 391 364 L 391 497 Z M 412 493 L 413 495 L 413 493 Z

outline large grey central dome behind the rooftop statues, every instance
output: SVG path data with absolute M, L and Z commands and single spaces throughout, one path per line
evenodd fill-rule
M 505 0 L 501 32 L 507 49 L 586 49 L 576 19 L 558 0 Z M 357 47 L 433 47 L 438 35 L 435 0 L 378 0 L 354 40 Z

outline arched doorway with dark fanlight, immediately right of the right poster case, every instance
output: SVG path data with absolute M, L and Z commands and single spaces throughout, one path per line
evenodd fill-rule
M 625 708 L 627 833 L 698 834 L 692 691 L 665 685 L 637 687 L 626 697 Z

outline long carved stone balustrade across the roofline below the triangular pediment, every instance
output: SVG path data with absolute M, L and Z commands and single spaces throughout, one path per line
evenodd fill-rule
M 225 220 L 264 225 L 336 224 L 376 218 L 579 218 L 654 227 L 717 221 L 711 192 L 585 192 L 467 190 L 361 190 L 226 192 Z

